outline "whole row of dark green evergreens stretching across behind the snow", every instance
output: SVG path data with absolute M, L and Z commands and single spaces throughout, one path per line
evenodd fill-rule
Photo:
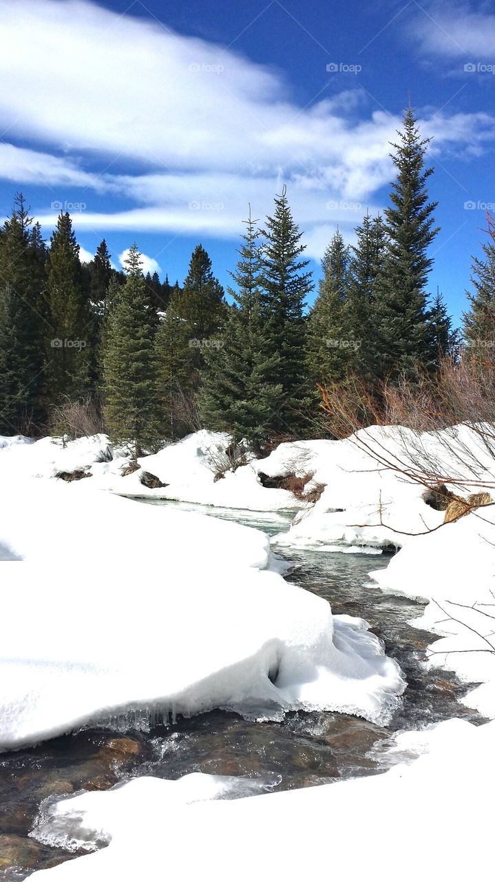
M 18 194 L 0 230 L 0 432 L 63 432 L 64 403 L 90 402 L 137 455 L 201 425 L 262 449 L 314 434 L 329 384 L 344 392 L 356 379 L 373 389 L 434 377 L 442 359 L 459 357 L 460 335 L 427 289 L 439 232 L 427 145 L 408 109 L 392 145 L 389 205 L 383 216 L 366 213 L 351 247 L 336 230 L 310 310 L 314 282 L 285 188 L 261 227 L 249 208 L 230 300 L 201 244 L 181 287 L 144 275 L 137 244 L 124 272 L 105 240 L 81 264 L 69 213 L 47 245 Z M 492 235 L 473 286 L 471 353 L 495 339 Z

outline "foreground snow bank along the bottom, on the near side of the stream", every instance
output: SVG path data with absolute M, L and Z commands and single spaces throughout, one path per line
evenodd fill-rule
M 135 882 L 165 872 L 200 878 L 214 867 L 219 882 L 233 872 L 247 882 L 327 878 L 330 863 L 332 877 L 350 882 L 381 882 L 385 865 L 400 868 L 404 882 L 425 878 L 425 868 L 449 882 L 484 877 L 493 857 L 486 794 L 495 786 L 494 736 L 495 723 L 477 729 L 448 721 L 422 735 L 422 744 L 411 744 L 409 733 L 399 739 L 398 751 L 428 751 L 410 766 L 230 801 L 235 781 L 197 774 L 63 799 L 46 805 L 34 834 L 52 844 L 107 847 L 30 878 Z

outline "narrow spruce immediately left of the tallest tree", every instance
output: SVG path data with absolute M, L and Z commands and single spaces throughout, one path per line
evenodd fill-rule
M 387 234 L 380 214 L 369 213 L 356 228 L 357 243 L 349 263 L 349 321 L 355 340 L 352 368 L 363 380 L 376 376 L 376 301 L 387 254 Z

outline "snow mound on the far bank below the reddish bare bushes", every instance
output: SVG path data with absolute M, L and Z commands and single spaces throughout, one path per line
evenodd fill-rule
M 314 474 L 313 484 L 325 485 L 320 499 L 299 512 L 289 532 L 276 541 L 336 549 L 398 547 L 406 534 L 440 524 L 443 512 L 426 505 L 425 488 L 401 472 L 404 437 L 409 435 L 403 429 L 372 426 L 341 441 L 280 445 L 258 461 L 258 469 L 276 475 L 299 457 L 301 467 Z M 380 456 L 387 457 L 391 468 L 381 465 Z

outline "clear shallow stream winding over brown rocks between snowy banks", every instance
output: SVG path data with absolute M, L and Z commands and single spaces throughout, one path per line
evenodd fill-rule
M 263 515 L 197 505 L 181 510 L 207 512 L 274 535 L 288 529 L 290 513 Z M 382 749 L 399 729 L 421 729 L 454 716 L 482 722 L 459 703 L 469 691 L 445 670 L 425 668 L 432 634 L 412 627 L 420 602 L 382 594 L 368 572 L 388 564 L 379 554 L 330 553 L 316 549 L 278 549 L 290 560 L 286 576 L 331 603 L 334 613 L 366 618 L 396 658 L 407 690 L 387 728 L 347 714 L 292 713 L 281 722 L 245 721 L 212 711 L 149 732 L 91 729 L 48 741 L 36 748 L 0 754 L 0 879 L 17 882 L 34 869 L 74 857 L 29 838 L 41 801 L 80 789 L 108 789 L 119 781 L 151 774 L 178 778 L 189 772 L 245 775 L 266 789 L 291 789 L 382 771 Z M 378 748 L 378 750 L 377 750 Z

